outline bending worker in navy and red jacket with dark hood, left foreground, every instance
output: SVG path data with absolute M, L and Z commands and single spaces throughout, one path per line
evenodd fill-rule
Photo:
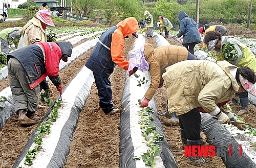
M 38 42 L 7 55 L 14 110 L 20 126 L 34 125 L 40 119 L 35 116 L 41 90 L 39 84 L 47 76 L 62 94 L 59 62 L 60 59 L 68 61 L 72 48 L 71 42 Z

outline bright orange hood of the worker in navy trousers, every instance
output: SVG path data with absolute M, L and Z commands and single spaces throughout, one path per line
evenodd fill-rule
M 129 36 L 139 31 L 138 21 L 135 17 L 128 17 L 123 21 L 120 21 L 116 27 L 122 32 L 123 37 Z

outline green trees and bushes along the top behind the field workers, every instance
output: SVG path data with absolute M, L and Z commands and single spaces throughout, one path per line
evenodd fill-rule
M 28 2 L 30 2 L 29 0 Z M 59 4 L 61 0 L 58 0 Z M 113 25 L 120 20 L 134 16 L 137 20 L 144 19 L 144 11 L 153 15 L 158 21 L 159 16 L 169 20 L 178 20 L 180 10 L 196 19 L 196 1 L 178 4 L 177 0 L 65 0 L 67 6 L 72 7 L 72 14 L 83 17 L 100 17 Z M 33 2 L 33 1 L 32 1 Z M 255 1 L 252 5 L 251 27 L 255 27 Z M 240 23 L 245 25 L 248 20 L 250 0 L 200 0 L 199 25 L 209 22 L 223 24 Z

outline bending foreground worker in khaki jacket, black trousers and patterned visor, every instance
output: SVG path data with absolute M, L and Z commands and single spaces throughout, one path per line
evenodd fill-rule
M 185 145 L 202 145 L 200 137 L 202 108 L 223 124 L 236 121 L 227 104 L 234 93 L 247 90 L 256 95 L 256 76 L 247 66 L 237 67 L 227 61 L 218 64 L 210 61 L 190 60 L 178 62 L 166 68 L 163 74 L 167 88 L 168 109 L 176 111 L 182 142 Z M 220 107 L 219 107 L 219 106 Z M 246 130 L 243 124 L 234 124 Z M 191 164 L 204 164 L 202 157 L 189 157 Z

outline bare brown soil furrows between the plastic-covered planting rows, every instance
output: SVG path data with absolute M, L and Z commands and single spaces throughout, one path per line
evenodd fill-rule
M 65 39 L 67 40 L 67 39 Z M 73 46 L 77 46 L 88 39 L 84 39 Z M 128 52 L 132 50 L 135 37 L 130 36 L 124 40 L 123 53 L 126 58 L 129 58 Z M 168 38 L 167 41 L 173 45 L 181 45 L 179 42 Z M 147 43 L 152 43 L 154 47 L 157 47 L 154 38 L 146 38 Z M 199 44 L 201 45 L 201 44 Z M 83 54 L 69 66 L 62 69 L 59 73 L 62 81 L 62 86 L 67 86 L 72 79 L 76 76 L 79 70 L 84 66 L 89 58 L 92 49 Z M 115 115 L 105 115 L 103 111 L 98 107 L 98 95 L 95 84 L 92 85 L 89 98 L 80 113 L 77 128 L 73 134 L 73 140 L 71 142 L 70 154 L 67 156 L 67 163 L 65 168 L 71 167 L 120 167 L 119 166 L 119 125 L 120 125 L 120 112 L 121 112 L 121 99 L 122 91 L 125 82 L 125 70 L 116 66 L 114 73 L 111 75 L 111 85 L 113 91 L 113 103 L 118 108 L 118 113 Z M 57 89 L 53 84 L 49 83 L 53 90 L 55 100 L 58 97 Z M 8 78 L 0 82 L 0 91 L 9 86 Z M 164 113 L 166 111 L 166 90 L 165 87 L 159 88 L 155 93 L 155 102 L 158 113 Z M 45 112 L 49 109 L 46 104 L 39 108 L 37 111 L 38 116 L 44 116 Z M 240 110 L 239 106 L 232 106 L 233 111 Z M 241 115 L 245 119 L 246 123 L 256 127 L 256 108 L 253 105 L 249 105 L 248 110 Z M 159 115 L 161 121 L 165 119 L 165 116 Z M 38 122 L 39 123 L 39 122 Z M 28 138 L 35 130 L 37 125 L 24 128 L 18 125 L 17 115 L 14 114 L 10 117 L 1 130 L 0 135 L 0 167 L 12 167 L 17 160 L 20 152 L 25 147 Z M 178 167 L 226 167 L 220 157 L 207 157 L 205 158 L 208 165 L 191 166 L 188 163 L 188 159 L 184 157 L 183 146 L 180 139 L 179 127 L 165 126 L 163 123 L 163 130 L 165 132 L 166 139 L 170 150 L 172 151 L 175 161 Z M 206 142 L 206 136 L 202 133 L 204 142 Z M 255 148 L 255 147 L 252 147 Z

